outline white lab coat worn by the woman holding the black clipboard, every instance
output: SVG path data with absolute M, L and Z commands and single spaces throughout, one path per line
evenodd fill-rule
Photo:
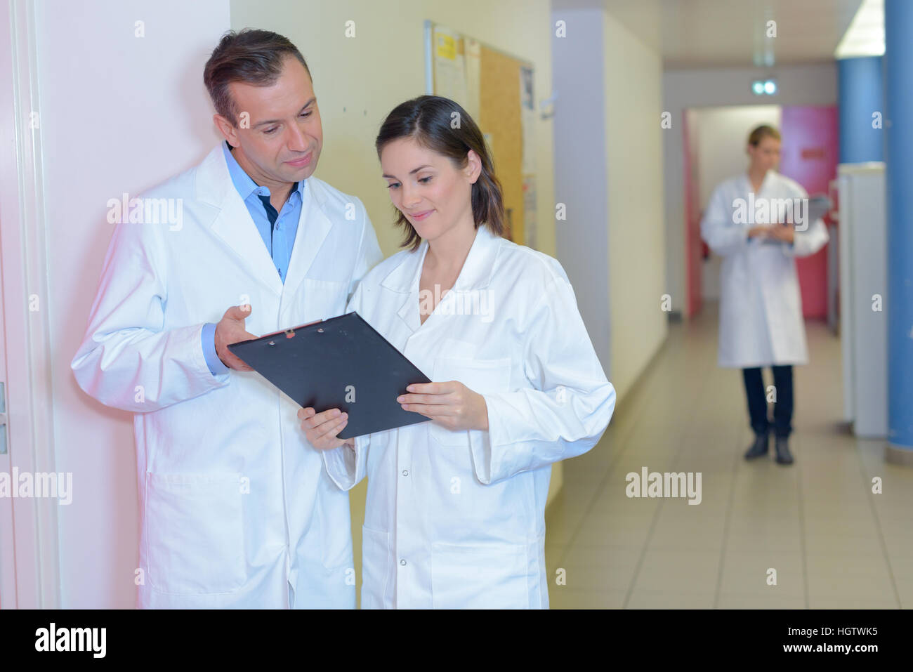
M 481 226 L 454 289 L 420 324 L 427 247 L 385 259 L 348 310 L 433 381 L 482 394 L 488 430 L 429 421 L 324 452 L 340 488 L 368 478 L 362 607 L 546 608 L 551 464 L 595 445 L 614 387 L 555 259 Z

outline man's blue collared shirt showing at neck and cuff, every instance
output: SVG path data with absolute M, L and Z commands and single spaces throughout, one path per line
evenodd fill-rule
M 282 205 L 282 210 L 277 213 L 276 209 L 269 205 L 269 187 L 259 186 L 250 175 L 245 173 L 232 154 L 228 142 L 222 146 L 222 152 L 225 153 L 231 181 L 235 184 L 235 189 L 244 201 L 244 205 L 247 205 L 247 212 L 254 220 L 257 232 L 263 239 L 263 244 L 267 246 L 269 255 L 273 258 L 279 278 L 285 282 L 289 273 L 291 249 L 295 245 L 295 236 L 298 234 L 298 220 L 301 216 L 305 183 L 302 180 L 292 186 L 289 198 Z M 228 373 L 229 368 L 222 363 L 215 352 L 215 323 L 205 323 L 200 340 L 203 343 L 203 353 L 209 371 L 213 375 Z

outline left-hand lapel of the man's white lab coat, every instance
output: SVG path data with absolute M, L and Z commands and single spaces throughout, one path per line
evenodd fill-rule
M 221 144 L 209 152 L 200 165 L 196 188 L 201 201 L 218 208 L 210 230 L 234 250 L 243 268 L 277 295 L 281 294 L 282 278 L 279 278 L 247 205 L 232 184 Z

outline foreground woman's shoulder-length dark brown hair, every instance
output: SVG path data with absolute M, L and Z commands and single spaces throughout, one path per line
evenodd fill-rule
M 504 232 L 504 197 L 501 184 L 495 176 L 491 153 L 482 131 L 467 111 L 453 100 L 441 96 L 419 96 L 397 105 L 381 124 L 374 146 L 377 158 L 389 142 L 400 138 L 413 138 L 421 146 L 448 157 L 457 168 L 467 164 L 469 150 L 476 152 L 482 163 L 475 184 L 472 185 L 472 218 L 476 228 L 485 224 L 495 234 Z M 415 250 L 422 238 L 405 215 L 396 211 L 396 225 L 405 230 L 400 247 Z

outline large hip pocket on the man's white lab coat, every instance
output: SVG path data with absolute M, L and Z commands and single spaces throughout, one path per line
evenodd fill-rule
M 245 582 L 240 474 L 146 474 L 146 558 L 161 593 L 233 593 Z

